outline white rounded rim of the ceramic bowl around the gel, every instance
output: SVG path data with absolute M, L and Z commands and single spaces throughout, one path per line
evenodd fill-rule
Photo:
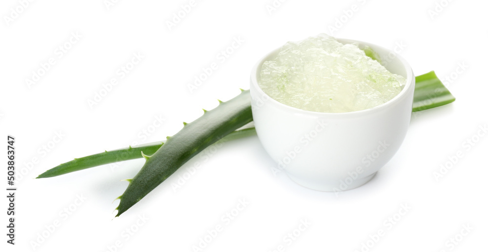
M 317 111 L 309 111 L 309 110 L 299 109 L 299 108 L 292 107 L 290 105 L 286 105 L 284 103 L 281 103 L 281 102 L 275 100 L 274 98 L 270 97 L 266 93 L 264 93 L 264 91 L 261 89 L 261 87 L 258 84 L 258 78 L 257 78 L 257 75 L 260 73 L 257 71 L 258 68 L 261 69 L 261 66 L 263 65 L 264 61 L 266 61 L 271 55 L 277 54 L 280 50 L 283 49 L 284 45 L 274 49 L 271 52 L 269 52 L 268 54 L 266 54 L 263 58 L 261 58 L 254 65 L 254 67 L 251 70 L 251 86 L 254 87 L 254 90 L 257 90 L 260 93 L 260 97 L 263 97 L 263 96 L 267 97 L 267 101 L 265 101 L 265 102 L 273 102 L 276 106 L 282 106 L 285 109 L 291 110 L 292 112 L 300 113 L 302 115 L 310 115 L 310 116 L 325 116 L 325 115 L 327 115 L 327 116 L 361 116 L 364 114 L 380 112 L 380 111 L 387 109 L 390 106 L 393 106 L 393 105 L 399 103 L 401 99 L 406 98 L 410 89 L 415 88 L 415 78 L 414 78 L 412 68 L 410 67 L 410 65 L 408 64 L 408 62 L 405 58 L 401 57 L 400 55 L 395 53 L 393 50 L 387 49 L 387 48 L 380 46 L 380 45 L 377 45 L 377 44 L 373 44 L 373 43 L 369 43 L 369 42 L 365 42 L 365 41 L 361 41 L 361 40 L 342 39 L 342 38 L 335 38 L 335 39 L 337 39 L 337 41 L 339 41 L 343 44 L 357 43 L 359 46 L 369 46 L 369 47 L 374 47 L 374 48 L 380 48 L 381 50 L 388 52 L 388 55 L 390 53 L 393 53 L 395 58 L 400 60 L 400 62 L 402 63 L 402 65 L 405 69 L 405 72 L 407 73 L 407 76 L 404 76 L 406 78 L 406 83 L 405 83 L 405 86 L 402 89 L 402 91 L 400 91 L 400 93 L 397 94 L 395 97 L 391 98 L 390 100 L 386 101 L 385 103 L 383 103 L 381 105 L 378 105 L 378 106 L 373 107 L 373 108 L 357 110 L 357 111 L 350 111 L 350 112 L 317 112 Z M 302 41 L 302 40 L 300 40 L 300 41 Z M 295 43 L 300 42 L 300 41 L 296 41 Z M 253 88 L 251 88 L 251 97 L 253 95 L 252 91 L 253 91 Z M 412 104 L 413 104 L 413 99 L 412 99 Z

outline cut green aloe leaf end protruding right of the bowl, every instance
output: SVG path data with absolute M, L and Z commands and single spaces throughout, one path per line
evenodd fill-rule
M 455 99 L 434 71 L 415 77 L 414 112 L 446 105 Z

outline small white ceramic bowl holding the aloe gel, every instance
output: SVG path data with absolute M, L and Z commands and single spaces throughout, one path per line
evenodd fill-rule
M 297 109 L 267 96 L 259 87 L 261 66 L 281 48 L 261 59 L 251 72 L 251 105 L 259 140 L 284 170 L 300 185 L 341 192 L 369 181 L 402 144 L 412 113 L 415 77 L 407 61 L 381 46 L 350 39 L 387 58 L 386 69 L 407 79 L 403 90 L 386 103 L 347 113 Z

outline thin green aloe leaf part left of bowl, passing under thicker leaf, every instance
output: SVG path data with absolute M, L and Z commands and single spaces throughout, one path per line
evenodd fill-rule
M 222 138 L 220 141 L 229 141 L 246 136 L 256 135 L 254 127 L 236 130 L 229 135 Z M 136 158 L 142 158 L 141 152 L 145 155 L 153 155 L 165 141 L 146 143 L 142 145 L 129 146 L 129 148 L 117 149 L 113 151 L 105 151 L 94 155 L 84 156 L 81 158 L 75 158 L 66 163 L 62 163 L 52 169 L 49 169 L 39 175 L 37 178 L 54 177 L 84 169 L 116 163 L 125 160 L 131 160 Z

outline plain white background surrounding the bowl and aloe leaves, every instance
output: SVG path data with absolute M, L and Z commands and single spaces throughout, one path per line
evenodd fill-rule
M 6 163 L 6 138 L 15 136 L 17 171 L 28 172 L 16 181 L 15 246 L 6 244 L 7 202 L 2 200 L 2 251 L 191 252 L 219 224 L 224 230 L 204 251 L 268 252 L 283 245 L 287 252 L 353 252 L 379 230 L 385 235 L 369 251 L 486 248 L 488 137 L 477 136 L 488 123 L 486 1 L 452 0 L 433 15 L 429 10 L 435 11 L 441 0 L 288 0 L 275 3 L 271 13 L 266 5 L 272 0 L 197 0 L 171 30 L 166 22 L 189 0 L 121 0 L 108 8 L 103 0 L 33 1 L 26 8 L 19 2 L 0 4 L 0 144 Z M 357 11 L 348 11 L 353 4 Z M 11 8 L 22 12 L 16 16 Z M 350 18 L 344 16 L 351 12 Z M 15 19 L 6 19 L 12 15 Z M 334 26 L 340 27 L 332 31 Z M 322 32 L 390 49 L 403 44 L 400 55 L 415 74 L 435 70 L 457 98 L 415 113 L 398 153 L 366 185 L 336 196 L 301 187 L 283 173 L 274 175 L 269 168 L 275 164 L 256 136 L 226 143 L 210 158 L 195 157 L 115 219 L 118 200 L 112 201 L 127 185 L 120 180 L 132 178 L 141 159 L 115 169 L 105 165 L 33 179 L 73 157 L 175 134 L 183 121 L 201 116 L 202 108 L 212 109 L 217 99 L 248 89 L 251 67 L 264 54 Z M 72 33 L 81 39 L 68 44 L 71 48 L 59 58 L 56 49 Z M 244 42 L 222 62 L 217 57 L 234 38 Z M 121 78 L 116 71 L 134 53 L 144 58 Z M 25 79 L 49 58 L 55 64 L 29 88 Z M 219 68 L 190 93 L 188 84 L 212 62 Z M 458 68 L 463 64 L 465 69 Z M 87 101 L 111 78 L 118 85 L 90 108 Z M 155 116 L 165 118 L 164 123 L 142 137 Z M 56 132 L 63 137 L 53 145 L 49 142 Z M 478 140 L 469 150 L 468 138 Z M 44 153 L 47 144 L 53 148 Z M 463 158 L 437 181 L 433 172 L 458 151 Z M 29 164 L 35 158 L 37 164 Z M 201 168 L 175 192 L 172 184 L 198 160 Z M 5 175 L 1 178 L 4 190 Z M 221 216 L 240 199 L 249 204 L 227 225 Z M 402 204 L 411 209 L 396 224 L 385 225 L 389 217 L 398 217 Z M 70 215 L 63 213 L 65 208 Z M 138 222 L 143 215 L 148 220 Z M 291 244 L 285 242 L 283 237 L 301 220 L 310 226 Z M 55 221 L 58 227 L 48 231 Z M 473 230 L 450 247 L 446 242 L 463 225 Z M 127 235 L 127 228 L 137 232 Z

